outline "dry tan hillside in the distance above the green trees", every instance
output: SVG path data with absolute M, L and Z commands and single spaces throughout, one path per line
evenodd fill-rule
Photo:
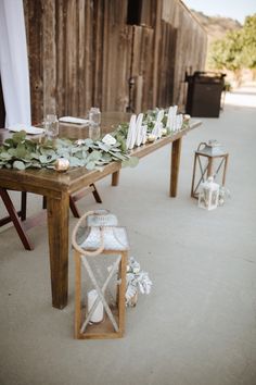
M 222 38 L 228 30 L 239 29 L 242 25 L 233 18 L 207 16 L 203 12 L 191 10 L 209 36 L 209 41 Z

